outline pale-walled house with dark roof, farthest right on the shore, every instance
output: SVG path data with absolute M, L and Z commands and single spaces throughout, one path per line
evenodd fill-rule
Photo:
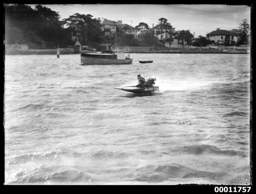
M 211 44 L 236 44 L 238 41 L 238 34 L 233 31 L 221 30 L 217 28 L 217 30 L 212 31 L 206 34 L 206 39 L 210 40 Z

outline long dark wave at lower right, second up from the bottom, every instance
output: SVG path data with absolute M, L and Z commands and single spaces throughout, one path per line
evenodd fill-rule
M 189 154 L 218 154 L 218 155 L 228 155 L 228 156 L 241 156 L 246 157 L 245 154 L 243 154 L 240 151 L 237 150 L 221 150 L 215 146 L 210 146 L 208 144 L 203 145 L 195 145 L 195 146 L 185 146 L 178 148 L 176 151 L 186 152 Z

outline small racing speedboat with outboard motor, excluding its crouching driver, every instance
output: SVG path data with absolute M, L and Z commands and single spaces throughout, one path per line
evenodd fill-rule
M 155 78 L 148 78 L 146 80 L 146 84 L 143 87 L 126 86 L 123 88 L 115 88 L 115 89 L 120 89 L 120 90 L 131 92 L 131 93 L 152 93 L 155 91 L 159 91 L 159 87 L 154 86 L 155 81 L 156 81 Z

